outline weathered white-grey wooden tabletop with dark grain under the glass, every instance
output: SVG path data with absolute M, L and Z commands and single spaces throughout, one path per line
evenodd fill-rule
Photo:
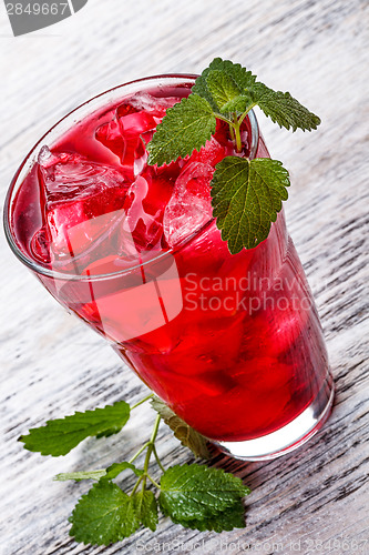
M 139 532 L 112 547 L 79 545 L 66 517 L 89 485 L 52 476 L 133 452 L 153 414 L 143 406 L 123 435 L 88 441 L 64 458 L 22 448 L 17 437 L 45 418 L 121 397 L 136 401 L 145 387 L 45 293 L 2 235 L 1 553 L 201 555 L 242 553 L 248 545 L 260 554 L 369 553 L 367 28 L 363 0 L 90 0 L 74 17 L 14 39 L 1 3 L 2 199 L 34 141 L 86 98 L 146 74 L 198 72 L 215 56 L 250 67 L 320 114 L 311 135 L 260 122 L 273 157 L 291 173 L 287 222 L 337 384 L 332 416 L 299 451 L 268 463 L 214 458 L 253 490 L 245 531 L 196 533 L 163 519 L 154 535 Z M 158 450 L 167 465 L 192 458 L 165 426 Z M 174 539 L 183 543 L 176 551 L 168 544 Z

